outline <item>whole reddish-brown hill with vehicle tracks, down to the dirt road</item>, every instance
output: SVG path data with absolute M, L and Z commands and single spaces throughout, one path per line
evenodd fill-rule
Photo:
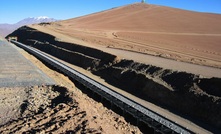
M 87 46 L 100 45 L 220 68 L 220 24 L 220 14 L 137 3 L 33 28 L 48 28 Z

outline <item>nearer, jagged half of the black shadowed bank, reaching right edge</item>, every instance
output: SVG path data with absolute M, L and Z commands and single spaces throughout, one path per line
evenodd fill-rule
M 221 125 L 221 79 L 204 79 L 194 74 L 128 60 L 122 60 L 94 74 L 181 116 L 195 118 L 217 127 Z

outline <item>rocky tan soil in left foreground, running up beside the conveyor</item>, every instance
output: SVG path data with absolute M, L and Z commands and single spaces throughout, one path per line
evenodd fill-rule
M 66 76 L 21 53 L 58 85 L 0 88 L 0 133 L 141 133 Z

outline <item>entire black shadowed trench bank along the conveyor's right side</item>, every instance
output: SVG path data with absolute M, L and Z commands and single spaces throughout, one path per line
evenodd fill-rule
M 57 41 L 52 35 L 21 27 L 9 36 L 100 76 L 107 83 L 176 114 L 221 128 L 221 79 L 145 65 L 103 51 Z M 204 124 L 203 123 L 203 124 Z M 202 125 L 202 124 L 199 124 Z M 205 127 L 205 126 L 203 126 Z

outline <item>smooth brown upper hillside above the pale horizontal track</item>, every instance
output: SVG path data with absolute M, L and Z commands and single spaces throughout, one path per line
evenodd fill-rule
M 61 22 L 73 28 L 221 34 L 221 15 L 149 4 L 127 5 Z

